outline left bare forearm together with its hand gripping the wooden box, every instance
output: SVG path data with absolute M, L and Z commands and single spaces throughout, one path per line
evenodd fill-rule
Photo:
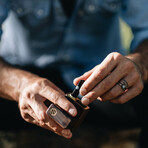
M 62 90 L 49 80 L 16 69 L 2 59 L 0 59 L 0 69 L 0 96 L 17 101 L 25 121 L 51 130 L 65 138 L 72 137 L 69 129 L 63 129 L 46 114 L 47 107 L 44 105 L 44 101 L 48 99 L 71 116 L 75 116 L 77 110 L 65 98 Z

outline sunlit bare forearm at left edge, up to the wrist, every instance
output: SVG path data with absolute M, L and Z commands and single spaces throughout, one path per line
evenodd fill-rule
M 17 69 L 0 58 L 0 97 L 18 101 L 20 92 L 36 75 Z

